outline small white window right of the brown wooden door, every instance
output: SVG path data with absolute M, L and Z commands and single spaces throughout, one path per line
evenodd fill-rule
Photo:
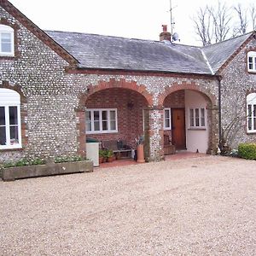
M 206 128 L 206 108 L 189 108 L 190 128 Z

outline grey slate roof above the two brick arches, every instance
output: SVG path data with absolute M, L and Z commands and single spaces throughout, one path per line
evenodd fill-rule
M 250 37 L 195 47 L 79 32 L 46 31 L 79 61 L 79 67 L 166 73 L 212 74 Z

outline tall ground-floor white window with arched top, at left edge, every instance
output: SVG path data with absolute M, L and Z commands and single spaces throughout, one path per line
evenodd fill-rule
M 0 149 L 21 148 L 20 95 L 0 89 Z

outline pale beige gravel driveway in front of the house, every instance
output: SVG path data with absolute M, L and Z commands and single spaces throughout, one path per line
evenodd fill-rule
M 256 255 L 256 161 L 0 182 L 0 255 Z

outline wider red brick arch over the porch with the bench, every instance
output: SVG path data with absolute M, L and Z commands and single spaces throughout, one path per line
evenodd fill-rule
M 87 88 L 87 92 L 79 98 L 79 107 L 84 107 L 84 102 L 89 96 L 93 95 L 97 91 L 106 90 L 111 88 L 120 88 L 137 91 L 148 102 L 148 106 L 153 106 L 153 95 L 148 93 L 145 85 L 138 85 L 135 81 L 126 81 L 125 79 L 109 79 L 109 81 L 100 81 L 96 86 L 90 85 Z

